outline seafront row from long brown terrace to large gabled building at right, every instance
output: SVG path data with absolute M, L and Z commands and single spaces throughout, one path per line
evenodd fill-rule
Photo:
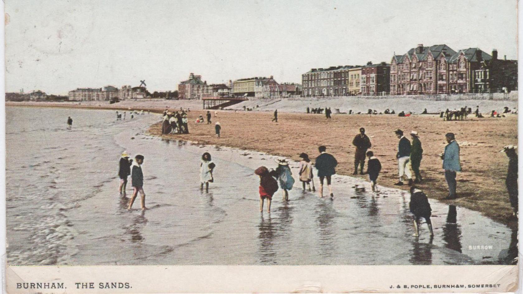
M 338 65 L 302 74 L 302 96 L 492 93 L 517 89 L 517 60 L 479 48 L 417 47 L 391 62 Z

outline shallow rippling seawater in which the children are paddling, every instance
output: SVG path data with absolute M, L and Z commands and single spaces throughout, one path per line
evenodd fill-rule
M 44 119 L 35 125 L 34 117 Z M 8 264 L 446 265 L 507 264 L 516 256 L 516 232 L 432 199 L 436 236 L 430 240 L 423 223 L 416 240 L 408 193 L 380 187 L 374 194 L 347 176 L 333 178 L 334 200 L 298 182 L 289 202 L 278 191 L 271 213 L 260 214 L 254 169 L 275 167 L 274 156 L 150 137 L 144 129 L 158 120 L 153 114 L 115 118 L 114 111 L 6 108 Z M 129 199 L 118 194 L 123 150 L 145 156 L 144 212 L 139 199 L 128 211 Z M 208 193 L 199 187 L 206 151 L 217 164 Z M 475 249 L 481 245 L 492 248 Z

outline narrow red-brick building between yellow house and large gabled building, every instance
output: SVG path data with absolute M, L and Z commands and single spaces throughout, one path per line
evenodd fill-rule
M 389 93 L 390 89 L 390 65 L 382 62 L 380 64 L 369 64 L 361 69 L 360 93 L 362 95 L 381 95 Z

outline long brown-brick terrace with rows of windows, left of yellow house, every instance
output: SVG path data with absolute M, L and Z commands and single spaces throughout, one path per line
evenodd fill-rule
M 302 74 L 303 96 L 349 95 L 350 70 L 359 65 L 338 65 L 328 69 L 311 69 Z M 353 70 L 354 74 L 354 70 Z

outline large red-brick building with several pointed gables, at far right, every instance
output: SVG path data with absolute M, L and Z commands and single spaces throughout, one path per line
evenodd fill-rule
M 516 84 L 511 75 L 517 61 L 498 60 L 496 50 L 492 54 L 479 48 L 456 52 L 445 44 L 430 47 L 419 44 L 404 55 L 393 56 L 390 92 L 392 95 L 450 94 L 497 92 L 504 85 L 514 88 Z

